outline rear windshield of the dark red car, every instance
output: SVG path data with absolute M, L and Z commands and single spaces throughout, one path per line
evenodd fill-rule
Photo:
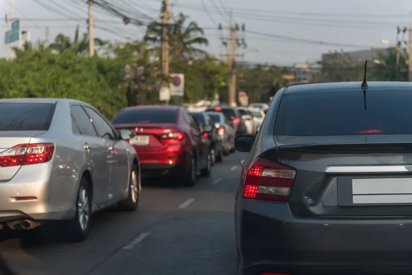
M 177 110 L 162 109 L 135 109 L 120 111 L 113 124 L 137 124 L 137 123 L 155 123 L 155 124 L 175 124 Z

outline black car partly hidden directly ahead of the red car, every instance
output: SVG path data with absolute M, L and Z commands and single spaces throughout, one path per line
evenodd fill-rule
M 203 112 L 193 112 L 192 115 L 196 118 L 201 130 L 204 131 L 203 135 L 209 137 L 211 163 L 222 162 L 223 160 L 223 146 L 222 138 L 218 133 L 218 129 L 214 126 L 214 121 L 209 118 L 209 115 Z

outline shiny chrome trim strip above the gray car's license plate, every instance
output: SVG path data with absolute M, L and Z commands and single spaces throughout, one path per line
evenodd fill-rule
M 326 166 L 325 173 L 411 173 L 412 165 Z

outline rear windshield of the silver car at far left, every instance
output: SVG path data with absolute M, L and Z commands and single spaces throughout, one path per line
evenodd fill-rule
M 54 103 L 0 103 L 0 131 L 48 131 Z

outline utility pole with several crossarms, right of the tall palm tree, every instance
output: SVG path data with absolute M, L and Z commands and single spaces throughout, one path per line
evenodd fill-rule
M 243 54 L 238 54 L 238 47 L 243 46 L 246 47 L 246 43 L 244 43 L 244 39 L 242 42 L 238 39 L 238 31 L 240 30 L 238 24 L 233 24 L 233 17 L 232 12 L 230 12 L 229 18 L 229 37 L 226 39 L 222 39 L 222 44 L 227 46 L 227 54 L 223 55 L 227 57 L 227 64 L 229 65 L 230 72 L 229 72 L 229 80 L 228 80 L 228 104 L 229 106 L 236 106 L 236 57 L 243 56 Z M 219 24 L 219 30 L 222 30 L 223 27 Z M 244 24 L 242 25 L 242 31 L 244 32 Z

